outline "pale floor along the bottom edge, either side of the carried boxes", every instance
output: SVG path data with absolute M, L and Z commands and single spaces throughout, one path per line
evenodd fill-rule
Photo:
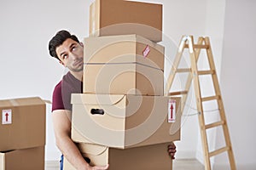
M 58 162 L 47 162 L 45 170 L 59 170 Z M 173 170 L 204 170 L 204 166 L 201 165 L 201 163 L 195 159 L 177 159 L 173 161 Z

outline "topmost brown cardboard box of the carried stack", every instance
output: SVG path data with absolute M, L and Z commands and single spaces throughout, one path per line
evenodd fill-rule
M 90 36 L 137 34 L 162 41 L 162 5 L 120 0 L 96 0 L 90 5 Z

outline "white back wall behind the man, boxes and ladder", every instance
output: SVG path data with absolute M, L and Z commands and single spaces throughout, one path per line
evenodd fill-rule
M 64 69 L 49 56 L 49 39 L 60 29 L 75 33 L 80 40 L 87 37 L 88 9 L 92 1 L 1 1 L 0 99 L 39 96 L 51 100 L 53 88 L 63 76 Z M 164 40 L 161 43 L 166 46 L 166 77 L 170 71 L 170 61 L 177 52 L 177 43 L 185 34 L 194 35 L 195 39 L 199 36 L 211 37 L 219 73 L 224 25 L 223 0 L 147 2 L 164 4 Z M 55 148 L 50 105 L 47 111 L 46 160 L 57 160 L 59 152 Z M 194 112 L 188 108 L 186 114 Z M 234 132 L 232 127 L 230 131 Z M 215 140 L 214 135 L 212 138 Z M 199 141 L 197 116 L 183 116 L 182 140 L 177 142 L 177 158 L 194 158 L 196 150 L 201 147 L 197 146 Z

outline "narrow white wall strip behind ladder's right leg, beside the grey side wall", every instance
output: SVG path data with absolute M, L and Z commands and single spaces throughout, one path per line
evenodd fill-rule
M 212 55 L 215 63 L 215 67 L 217 70 L 217 75 L 219 77 L 221 59 L 222 59 L 222 47 L 223 47 L 223 36 L 224 36 L 224 9 L 225 9 L 225 1 L 218 0 L 212 1 L 207 0 L 206 6 L 206 27 L 205 33 L 202 36 L 210 37 L 211 47 L 212 47 Z M 201 56 L 199 61 L 199 69 L 209 70 L 208 67 L 208 59 L 206 55 L 206 50 L 201 50 Z M 212 78 L 202 77 L 201 78 L 201 95 L 211 96 L 214 95 L 214 89 L 212 86 Z M 211 122 L 218 122 L 218 106 L 215 105 L 214 102 L 205 102 L 204 111 L 205 111 L 205 121 L 206 124 Z M 209 150 L 215 150 L 215 138 L 216 138 L 216 129 L 212 128 L 211 130 L 207 130 L 207 138 L 208 138 L 208 148 Z M 204 163 L 203 150 L 201 144 L 201 135 L 198 135 L 198 144 L 196 151 L 196 158 Z M 213 159 L 214 160 L 214 159 Z M 212 160 L 212 162 L 213 162 Z

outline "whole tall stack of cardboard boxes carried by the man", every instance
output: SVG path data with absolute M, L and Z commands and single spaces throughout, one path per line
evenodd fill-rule
M 163 96 L 162 5 L 96 0 L 84 39 L 84 94 L 73 94 L 72 139 L 91 165 L 171 169 L 179 98 Z M 175 117 L 176 116 L 176 117 Z M 64 169 L 73 167 L 64 159 Z

